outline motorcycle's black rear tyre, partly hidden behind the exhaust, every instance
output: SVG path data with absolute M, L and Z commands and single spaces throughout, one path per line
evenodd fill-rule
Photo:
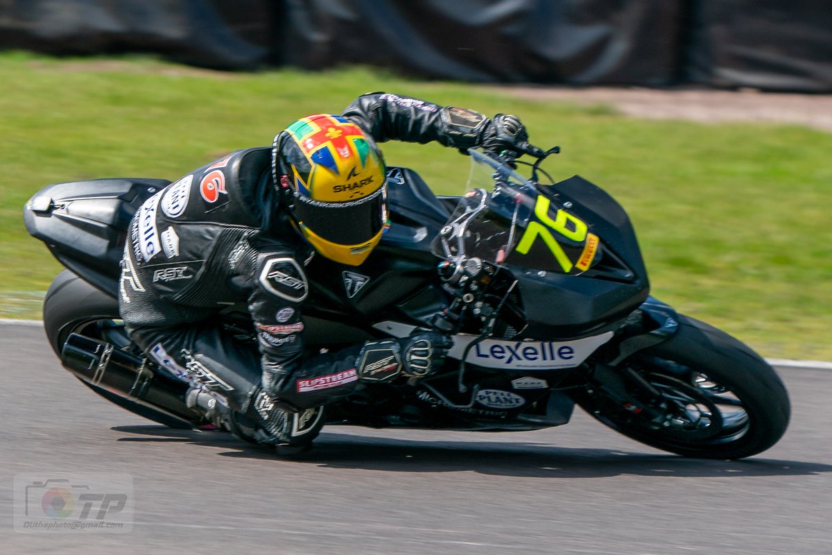
M 52 350 L 58 358 L 69 334 L 82 334 L 102 339 L 116 349 L 130 348 L 124 325 L 118 313 L 118 301 L 82 280 L 70 270 L 57 275 L 43 300 L 43 327 Z M 127 409 L 133 414 L 176 429 L 192 429 L 186 420 L 138 404 L 80 379 L 82 384 L 104 399 Z

